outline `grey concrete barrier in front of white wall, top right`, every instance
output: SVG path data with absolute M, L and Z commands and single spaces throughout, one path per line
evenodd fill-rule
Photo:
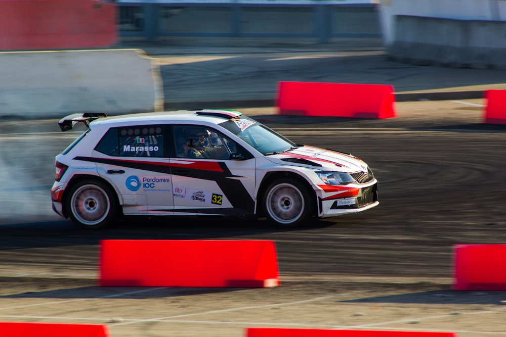
M 417 65 L 506 70 L 506 21 L 396 16 L 391 59 Z

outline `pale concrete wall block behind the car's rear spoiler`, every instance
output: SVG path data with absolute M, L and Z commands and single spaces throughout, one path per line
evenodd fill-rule
M 141 50 L 0 53 L 0 116 L 163 109 L 159 69 Z

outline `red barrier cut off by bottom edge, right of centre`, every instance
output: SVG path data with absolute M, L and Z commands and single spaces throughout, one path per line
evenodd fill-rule
M 247 328 L 246 337 L 457 337 L 453 332 Z

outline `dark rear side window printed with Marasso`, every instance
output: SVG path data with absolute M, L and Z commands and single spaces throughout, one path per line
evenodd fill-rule
M 95 150 L 108 156 L 163 157 L 163 130 L 160 125 L 112 128 Z

